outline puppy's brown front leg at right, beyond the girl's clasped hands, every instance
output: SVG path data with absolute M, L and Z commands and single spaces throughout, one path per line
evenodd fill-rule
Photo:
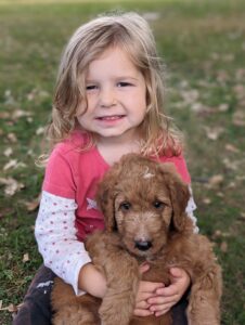
M 188 307 L 189 325 L 220 324 L 221 287 L 221 269 L 218 264 L 194 281 Z

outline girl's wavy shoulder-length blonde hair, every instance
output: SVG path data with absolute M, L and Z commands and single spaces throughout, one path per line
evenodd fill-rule
M 147 109 L 141 125 L 142 154 L 179 155 L 180 133 L 169 127 L 169 118 L 164 113 L 164 68 L 155 40 L 146 21 L 132 12 L 99 16 L 81 25 L 72 36 L 57 74 L 52 121 L 48 127 L 51 146 L 78 127 L 78 104 L 87 103 L 86 72 L 89 64 L 109 47 L 126 51 L 145 79 Z M 92 144 L 94 141 L 91 136 Z

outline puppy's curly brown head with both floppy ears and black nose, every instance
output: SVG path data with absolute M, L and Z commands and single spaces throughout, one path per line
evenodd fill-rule
M 169 232 L 184 230 L 189 197 L 171 164 L 129 154 L 105 174 L 96 200 L 106 231 L 117 232 L 132 253 L 150 257 L 166 244 Z

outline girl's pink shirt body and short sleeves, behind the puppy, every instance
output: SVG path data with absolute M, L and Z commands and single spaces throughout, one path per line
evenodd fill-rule
M 82 151 L 87 142 L 88 135 L 74 132 L 69 140 L 57 144 L 50 156 L 42 186 L 46 192 L 76 202 L 75 225 L 79 240 L 83 240 L 94 229 L 104 227 L 94 195 L 98 182 L 109 169 L 96 146 Z M 183 156 L 160 157 L 159 160 L 175 164 L 182 179 L 190 183 Z

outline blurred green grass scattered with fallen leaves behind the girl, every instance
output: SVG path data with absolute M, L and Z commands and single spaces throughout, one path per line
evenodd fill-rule
M 43 171 L 35 158 L 61 51 L 76 27 L 115 8 L 159 15 L 150 23 L 168 70 L 167 110 L 184 131 L 198 225 L 223 269 L 222 324 L 245 324 L 244 1 L 44 2 L 0 2 L 0 300 L 10 310 L 0 324 L 11 324 L 41 263 L 34 209 Z M 8 178 L 21 187 L 13 195 Z

